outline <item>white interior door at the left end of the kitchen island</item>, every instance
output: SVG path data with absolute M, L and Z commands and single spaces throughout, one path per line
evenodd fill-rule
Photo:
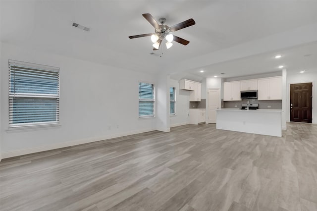
M 220 107 L 219 89 L 208 90 L 208 123 L 216 123 L 216 115 Z

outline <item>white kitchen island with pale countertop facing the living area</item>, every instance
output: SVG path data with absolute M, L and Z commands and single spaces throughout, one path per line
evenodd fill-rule
M 217 109 L 216 128 L 282 137 L 282 110 Z

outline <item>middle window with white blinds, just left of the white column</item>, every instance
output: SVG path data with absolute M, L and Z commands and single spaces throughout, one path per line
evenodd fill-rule
M 155 103 L 154 85 L 139 82 L 139 117 L 153 117 Z

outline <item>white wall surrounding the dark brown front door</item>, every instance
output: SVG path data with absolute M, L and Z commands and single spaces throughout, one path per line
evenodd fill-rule
M 305 73 L 287 72 L 286 77 L 286 121 L 290 121 L 290 84 L 313 83 L 313 123 L 317 124 L 317 70 Z

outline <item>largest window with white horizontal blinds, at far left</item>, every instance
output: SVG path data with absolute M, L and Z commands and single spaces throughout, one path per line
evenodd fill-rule
M 9 60 L 9 127 L 59 124 L 59 68 Z

